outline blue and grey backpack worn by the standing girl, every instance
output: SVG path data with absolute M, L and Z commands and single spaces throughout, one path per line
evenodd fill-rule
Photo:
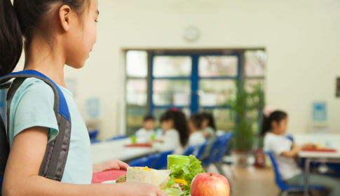
M 15 83 L 10 81 L 12 78 L 15 78 Z M 57 118 L 59 133 L 57 137 L 53 139 L 53 141 L 50 141 L 46 146 L 46 152 L 39 169 L 39 176 L 43 176 L 55 181 L 61 181 L 69 152 L 71 117 L 64 94 L 62 94 L 60 88 L 52 80 L 50 80 L 50 78 L 43 75 L 39 71 L 34 70 L 19 71 L 0 77 L 0 89 L 8 89 L 6 96 L 7 130 L 9 125 L 9 111 L 13 95 L 26 78 L 38 78 L 43 80 L 46 84 L 50 85 L 55 94 L 54 111 L 55 118 Z M 0 114 L 0 196 L 1 185 L 9 152 L 9 137 L 6 131 L 6 126 Z

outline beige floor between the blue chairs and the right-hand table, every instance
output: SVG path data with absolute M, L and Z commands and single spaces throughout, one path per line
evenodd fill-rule
M 230 168 L 223 167 L 228 176 L 231 176 Z M 280 191 L 276 187 L 273 171 L 268 169 L 256 169 L 254 167 L 233 168 L 236 180 L 231 181 L 232 196 L 278 196 Z M 208 172 L 218 173 L 215 167 L 210 166 Z

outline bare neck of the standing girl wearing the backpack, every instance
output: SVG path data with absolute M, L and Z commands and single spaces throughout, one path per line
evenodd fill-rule
M 25 69 L 32 69 L 48 76 L 53 82 L 62 87 L 66 87 L 64 80 L 64 55 L 58 47 L 51 47 L 41 43 L 41 41 L 32 41 L 29 52 L 26 52 Z

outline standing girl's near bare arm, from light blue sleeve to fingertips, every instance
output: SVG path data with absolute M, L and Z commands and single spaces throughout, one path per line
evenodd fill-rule
M 48 141 L 48 128 L 32 127 L 13 140 L 6 165 L 4 196 L 165 196 L 156 186 L 143 183 L 74 185 L 38 176 Z

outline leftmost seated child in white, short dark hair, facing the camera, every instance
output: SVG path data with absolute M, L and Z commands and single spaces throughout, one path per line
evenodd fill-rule
M 155 118 L 154 116 L 145 116 L 143 120 L 143 127 L 136 132 L 137 143 L 147 143 L 152 140 L 155 134 Z

